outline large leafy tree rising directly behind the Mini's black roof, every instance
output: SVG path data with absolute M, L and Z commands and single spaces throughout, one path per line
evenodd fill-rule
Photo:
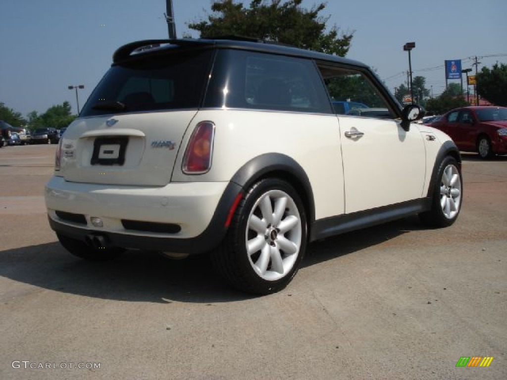
M 329 17 L 319 16 L 325 4 L 312 9 L 301 7 L 303 0 L 252 0 L 245 8 L 233 0 L 215 1 L 207 20 L 189 24 L 201 37 L 243 35 L 294 45 L 328 54 L 345 56 L 353 33 L 340 33 L 334 25 L 327 30 Z

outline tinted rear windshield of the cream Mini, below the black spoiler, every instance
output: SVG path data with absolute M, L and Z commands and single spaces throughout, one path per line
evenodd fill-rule
M 92 92 L 80 116 L 197 108 L 212 55 L 211 50 L 173 52 L 114 65 Z

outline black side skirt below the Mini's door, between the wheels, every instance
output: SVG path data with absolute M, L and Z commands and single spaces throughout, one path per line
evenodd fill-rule
M 391 220 L 419 214 L 431 208 L 431 198 L 397 203 L 366 211 L 343 214 L 315 220 L 310 229 L 310 241 L 329 238 L 334 235 L 364 229 Z

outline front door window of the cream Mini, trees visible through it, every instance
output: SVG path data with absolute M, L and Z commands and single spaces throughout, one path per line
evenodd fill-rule
M 387 101 L 363 72 L 325 65 L 319 69 L 338 115 L 393 118 Z

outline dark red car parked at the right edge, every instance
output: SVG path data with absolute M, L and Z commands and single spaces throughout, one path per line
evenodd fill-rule
M 447 112 L 431 127 L 447 133 L 462 151 L 482 159 L 507 154 L 507 107 L 463 107 Z

